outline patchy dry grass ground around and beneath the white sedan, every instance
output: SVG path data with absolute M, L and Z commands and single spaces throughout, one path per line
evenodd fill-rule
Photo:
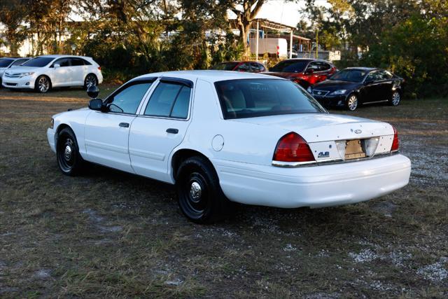
M 86 103 L 82 90 L 0 90 L 1 298 L 447 297 L 446 99 L 333 111 L 398 128 L 405 188 L 325 209 L 241 206 L 216 225 L 186 221 L 163 183 L 62 175 L 45 130 Z

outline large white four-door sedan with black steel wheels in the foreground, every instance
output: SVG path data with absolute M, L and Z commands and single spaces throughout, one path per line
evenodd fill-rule
M 53 116 L 47 135 L 64 174 L 88 161 L 172 183 L 197 223 L 228 216 L 232 202 L 362 202 L 402 188 L 411 171 L 388 123 L 332 115 L 291 81 L 232 71 L 134 78 Z

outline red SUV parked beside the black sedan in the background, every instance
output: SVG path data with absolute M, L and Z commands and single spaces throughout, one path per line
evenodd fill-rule
M 328 61 L 298 58 L 283 60 L 265 74 L 287 78 L 300 84 L 303 88 L 308 88 L 324 81 L 336 71 L 336 67 Z

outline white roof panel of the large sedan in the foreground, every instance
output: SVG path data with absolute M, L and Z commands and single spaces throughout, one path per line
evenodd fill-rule
M 137 77 L 138 79 L 154 78 L 154 77 L 171 77 L 180 78 L 190 81 L 196 81 L 196 79 L 202 79 L 204 81 L 214 83 L 218 81 L 226 80 L 238 80 L 238 79 L 276 79 L 286 80 L 276 76 L 269 76 L 264 74 L 247 73 L 239 71 L 218 71 L 218 70 L 195 70 L 195 71 L 162 71 L 160 73 L 146 74 Z M 135 79 L 137 79 L 135 78 Z

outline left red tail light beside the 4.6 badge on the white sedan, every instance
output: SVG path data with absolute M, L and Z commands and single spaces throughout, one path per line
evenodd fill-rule
M 299 134 L 290 132 L 279 140 L 273 160 L 279 162 L 310 162 L 314 161 L 314 155 L 307 141 Z

